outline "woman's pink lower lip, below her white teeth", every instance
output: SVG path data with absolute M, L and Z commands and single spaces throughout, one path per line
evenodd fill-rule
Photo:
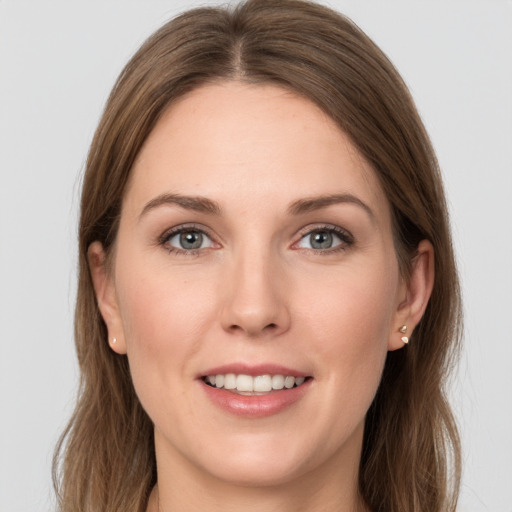
M 238 395 L 223 388 L 214 388 L 200 381 L 208 398 L 224 411 L 245 418 L 265 418 L 278 414 L 300 400 L 312 379 L 292 389 L 274 391 L 268 395 Z

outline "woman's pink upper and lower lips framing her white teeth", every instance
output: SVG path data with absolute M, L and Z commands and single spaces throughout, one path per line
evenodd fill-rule
M 230 414 L 253 419 L 272 416 L 284 411 L 307 393 L 313 380 L 306 379 L 306 381 L 298 387 L 272 391 L 265 395 L 239 395 L 224 388 L 209 386 L 203 380 L 203 377 L 207 375 L 225 375 L 228 373 L 251 375 L 253 377 L 266 374 L 290 375 L 293 377 L 307 377 L 308 375 L 298 370 L 273 364 L 255 366 L 230 364 L 211 368 L 199 376 L 198 381 L 204 393 L 213 404 Z

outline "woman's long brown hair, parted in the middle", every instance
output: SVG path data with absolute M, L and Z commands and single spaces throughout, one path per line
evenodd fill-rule
M 219 80 L 281 85 L 338 123 L 381 182 L 405 276 L 419 241 L 433 244 L 431 300 L 409 346 L 388 354 L 366 418 L 359 489 L 374 512 L 455 510 L 460 449 L 445 384 L 461 307 L 436 157 L 386 56 L 347 18 L 301 0 L 186 12 L 144 43 L 114 86 L 83 182 L 75 319 L 81 381 L 54 460 L 60 510 L 142 512 L 156 482 L 153 426 L 126 356 L 107 343 L 87 249 L 99 240 L 111 250 L 130 170 L 164 110 Z

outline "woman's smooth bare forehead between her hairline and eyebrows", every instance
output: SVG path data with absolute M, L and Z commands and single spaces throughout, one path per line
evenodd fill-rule
M 196 89 L 159 120 L 125 202 L 161 193 L 204 195 L 226 207 L 350 193 L 388 210 L 373 169 L 329 116 L 284 88 L 240 82 Z

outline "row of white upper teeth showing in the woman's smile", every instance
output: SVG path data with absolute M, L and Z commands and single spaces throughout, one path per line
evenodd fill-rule
M 205 382 L 216 388 L 236 390 L 242 393 L 268 393 L 272 390 L 283 388 L 291 389 L 304 384 L 305 377 L 293 377 L 291 375 L 235 375 L 234 373 L 208 375 Z

